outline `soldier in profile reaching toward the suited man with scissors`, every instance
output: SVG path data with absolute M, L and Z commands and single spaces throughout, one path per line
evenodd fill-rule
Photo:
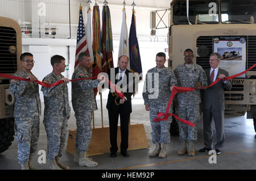
M 88 78 L 90 74 L 87 69 L 90 68 L 90 54 L 82 52 L 79 54 L 79 65 L 77 65 L 72 79 Z M 101 81 L 86 79 L 72 82 L 72 106 L 76 117 L 76 154 L 74 162 L 79 166 L 95 167 L 98 165 L 91 158 L 86 156 L 86 151 L 92 138 L 92 113 L 97 110 L 96 100 L 93 88 L 97 87 Z M 105 79 L 104 79 L 105 81 Z M 103 83 L 103 82 L 101 82 Z

